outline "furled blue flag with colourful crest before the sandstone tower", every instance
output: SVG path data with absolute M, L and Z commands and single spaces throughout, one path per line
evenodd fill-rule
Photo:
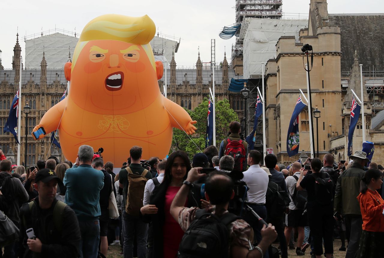
M 299 95 L 288 127 L 287 152 L 290 157 L 299 152 L 299 114 L 303 111 L 305 106 L 306 105 L 301 101 L 301 96 Z

